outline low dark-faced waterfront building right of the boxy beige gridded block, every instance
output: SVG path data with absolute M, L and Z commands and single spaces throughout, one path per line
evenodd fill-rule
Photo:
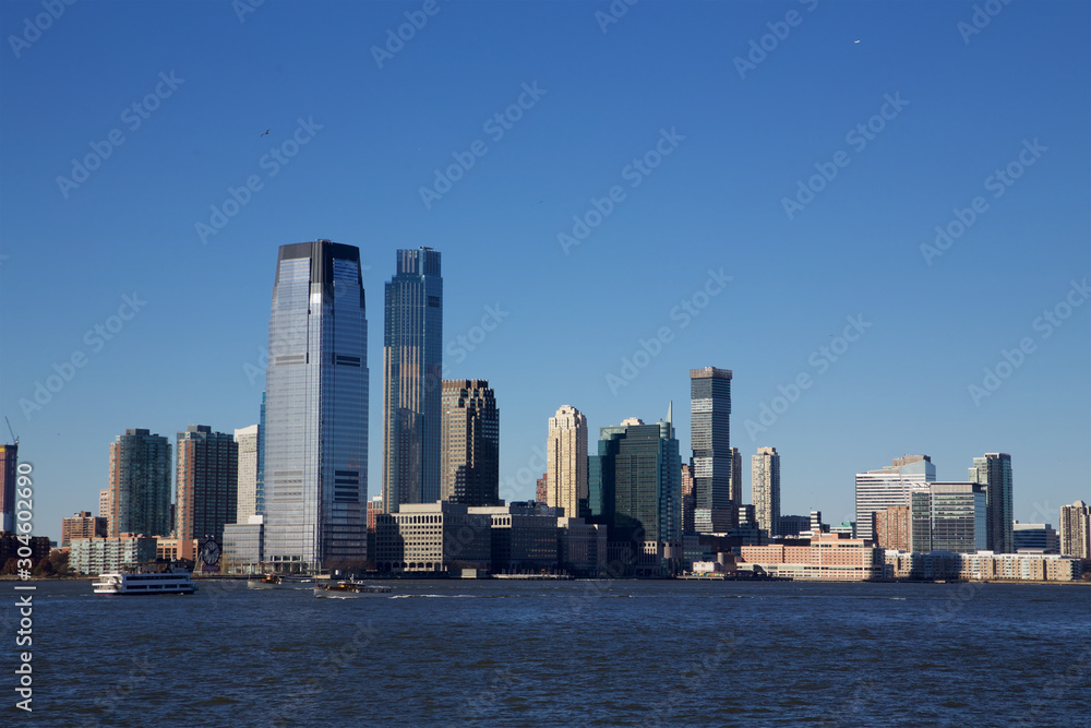
M 558 509 L 544 503 L 470 506 L 490 518 L 490 570 L 494 574 L 553 573 L 558 568 Z

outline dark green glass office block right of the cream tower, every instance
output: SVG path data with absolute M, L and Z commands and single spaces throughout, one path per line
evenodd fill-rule
M 682 539 L 682 458 L 670 415 L 645 425 L 630 418 L 603 427 L 589 458 L 591 514 L 611 541 L 670 544 Z

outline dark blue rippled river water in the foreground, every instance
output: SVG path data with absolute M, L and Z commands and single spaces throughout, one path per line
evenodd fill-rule
M 1091 725 L 1089 587 L 393 587 L 108 598 L 41 583 L 34 714 L 4 691 L 0 724 Z

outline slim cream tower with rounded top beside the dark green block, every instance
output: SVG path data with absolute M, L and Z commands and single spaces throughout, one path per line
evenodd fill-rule
M 549 418 L 546 467 L 546 504 L 579 517 L 579 501 L 587 501 L 587 418 L 571 405 Z

